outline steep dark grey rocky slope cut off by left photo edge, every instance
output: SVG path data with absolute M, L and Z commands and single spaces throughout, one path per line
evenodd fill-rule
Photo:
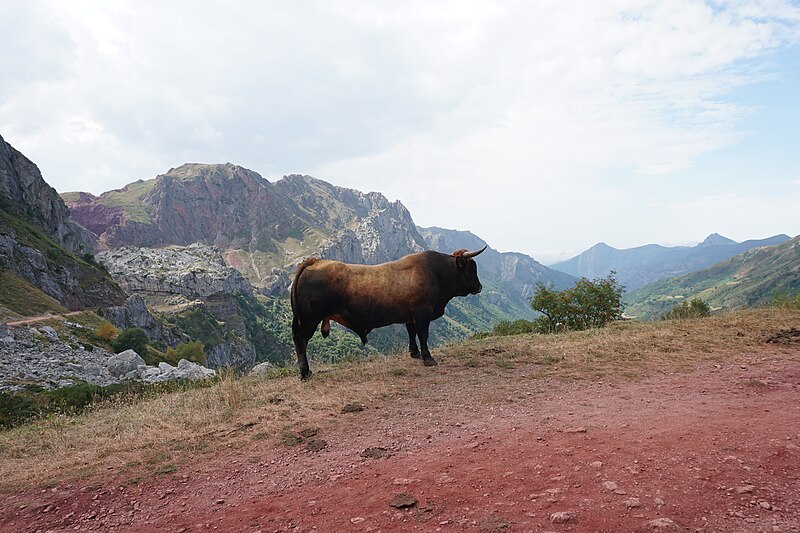
M 0 317 L 124 302 L 91 247 L 38 167 L 0 137 Z

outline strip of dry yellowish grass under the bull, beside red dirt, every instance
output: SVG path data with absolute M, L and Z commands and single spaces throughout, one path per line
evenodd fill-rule
M 79 416 L 53 416 L 0 433 L 0 491 L 109 471 L 131 483 L 179 472 L 182 464 L 230 447 L 261 441 L 283 446 L 286 434 L 335 420 L 347 404 L 398 396 L 410 401 L 422 387 L 427 388 L 421 396 L 433 408 L 439 395 L 429 393 L 437 387 L 442 396 L 467 385 L 498 389 L 499 395 L 542 378 L 611 380 L 687 371 L 704 362 L 747 357 L 763 350 L 769 336 L 798 324 L 800 312 L 770 309 L 466 341 L 438 350 L 434 355 L 442 366 L 436 370 L 395 354 L 316 365 L 306 383 L 294 372 L 276 379 L 225 374 L 209 388 L 118 400 Z M 775 350 L 796 353 L 797 347 Z

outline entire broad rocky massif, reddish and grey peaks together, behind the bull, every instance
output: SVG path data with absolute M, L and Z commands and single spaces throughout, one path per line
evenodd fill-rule
M 314 253 L 380 263 L 425 246 L 408 210 L 380 193 L 300 175 L 270 183 L 230 163 L 186 164 L 97 197 L 64 198 L 101 248 L 213 245 L 268 293 L 285 291 L 287 267 Z

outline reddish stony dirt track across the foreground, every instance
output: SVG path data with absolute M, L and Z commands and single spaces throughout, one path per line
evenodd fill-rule
M 5 496 L 0 531 L 800 531 L 796 346 L 636 383 L 510 376 L 437 374 L 138 485 Z

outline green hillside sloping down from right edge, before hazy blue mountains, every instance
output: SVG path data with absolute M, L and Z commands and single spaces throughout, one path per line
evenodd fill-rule
M 625 297 L 625 313 L 655 319 L 692 298 L 703 299 L 712 309 L 752 307 L 772 301 L 775 291 L 791 296 L 800 292 L 800 236 L 646 285 Z

